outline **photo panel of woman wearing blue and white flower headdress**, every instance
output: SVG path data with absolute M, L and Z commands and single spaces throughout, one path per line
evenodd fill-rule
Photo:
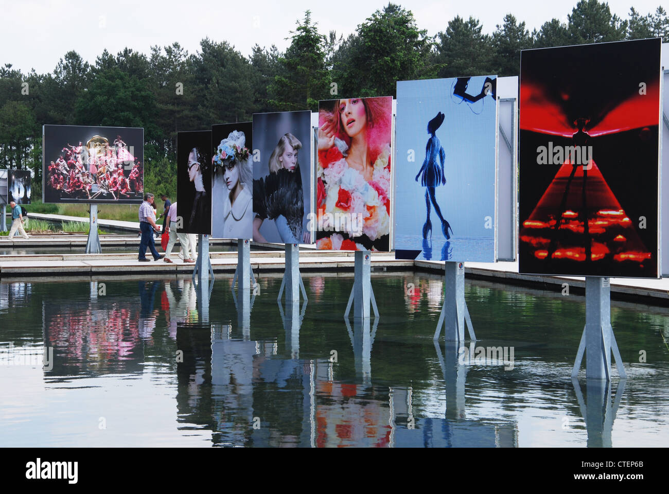
M 252 238 L 252 136 L 252 122 L 211 127 L 211 236 L 214 238 Z

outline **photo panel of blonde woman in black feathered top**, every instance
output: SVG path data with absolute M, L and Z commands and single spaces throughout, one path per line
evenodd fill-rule
M 253 116 L 253 240 L 310 244 L 311 112 Z

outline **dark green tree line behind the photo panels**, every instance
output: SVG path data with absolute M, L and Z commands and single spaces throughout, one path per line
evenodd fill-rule
M 41 126 L 144 127 L 147 191 L 176 196 L 176 135 L 256 112 L 315 111 L 318 100 L 395 96 L 397 80 L 518 75 L 520 50 L 663 36 L 662 7 L 627 19 L 598 0 L 581 0 L 567 16 L 529 31 L 508 13 L 492 34 L 478 19 L 456 16 L 429 36 L 413 13 L 389 3 L 344 38 L 321 33 L 310 11 L 287 33 L 290 46 L 254 46 L 244 55 L 227 41 L 202 39 L 189 54 L 178 42 L 149 54 L 104 50 L 88 63 L 67 52 L 53 72 L 0 68 L 0 167 L 33 169 L 41 190 Z M 5 52 L 6 53 L 6 52 Z

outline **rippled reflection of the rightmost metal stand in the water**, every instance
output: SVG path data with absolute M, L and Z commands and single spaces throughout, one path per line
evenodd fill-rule
M 577 378 L 571 378 L 576 392 L 576 398 L 581 409 L 581 416 L 585 420 L 587 429 L 587 446 L 589 448 L 610 448 L 613 420 L 620 406 L 625 390 L 625 379 L 621 379 L 615 389 L 615 398 L 611 404 L 611 382 L 600 379 L 588 379 L 585 382 L 587 402 L 583 400 L 581 383 Z

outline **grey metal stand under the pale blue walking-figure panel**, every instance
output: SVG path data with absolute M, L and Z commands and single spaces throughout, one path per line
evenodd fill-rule
M 446 262 L 444 264 L 444 305 L 439 315 L 434 339 L 438 339 L 444 326 L 446 341 L 464 341 L 464 323 L 467 323 L 469 337 L 476 340 L 472 318 L 464 300 L 464 263 Z

